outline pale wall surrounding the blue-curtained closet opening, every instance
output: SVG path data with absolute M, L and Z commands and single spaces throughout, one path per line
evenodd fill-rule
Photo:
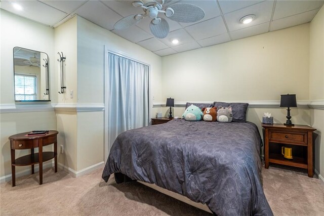
M 151 102 L 161 97 L 161 57 L 118 35 L 77 17 L 77 102 L 104 103 L 105 48 L 150 65 Z M 154 112 L 151 112 L 152 116 Z M 104 112 L 78 113 L 78 167 L 104 161 Z M 109 130 L 109 128 L 107 128 Z M 87 132 L 87 131 L 92 131 Z M 91 154 L 89 154 L 91 152 Z M 101 158 L 102 156 L 102 158 Z

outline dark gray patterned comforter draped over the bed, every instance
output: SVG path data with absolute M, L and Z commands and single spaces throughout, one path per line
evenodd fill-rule
M 273 215 L 261 183 L 260 134 L 251 122 L 182 119 L 121 133 L 102 173 L 154 183 L 217 215 Z

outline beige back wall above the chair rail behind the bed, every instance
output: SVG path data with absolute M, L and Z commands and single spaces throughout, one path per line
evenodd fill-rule
M 163 98 L 176 101 L 309 97 L 309 24 L 163 57 Z

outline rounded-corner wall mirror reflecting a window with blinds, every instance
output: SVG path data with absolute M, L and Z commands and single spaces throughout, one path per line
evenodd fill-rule
M 15 101 L 50 101 L 49 57 L 14 47 Z

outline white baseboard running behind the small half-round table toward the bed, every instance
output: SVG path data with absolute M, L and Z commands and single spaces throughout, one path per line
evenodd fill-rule
M 58 168 L 69 172 L 73 177 L 80 177 L 80 176 L 88 174 L 89 172 L 92 172 L 92 171 L 94 171 L 96 169 L 102 168 L 104 166 L 104 164 L 105 164 L 105 162 L 102 161 L 100 163 L 94 164 L 92 166 L 89 166 L 89 167 L 84 168 L 84 169 L 79 170 L 79 171 L 75 171 L 74 169 L 71 169 L 70 167 L 67 167 L 67 166 L 65 166 L 65 165 L 63 165 L 61 163 L 57 163 L 57 166 L 58 166 Z M 50 167 L 54 167 L 54 161 L 53 162 L 44 162 L 43 169 L 47 169 L 47 168 L 50 168 Z M 35 172 L 38 172 L 38 170 L 39 170 L 38 164 L 35 164 L 34 170 L 35 170 Z M 31 174 L 31 168 L 28 166 L 28 168 L 26 168 L 25 170 L 20 171 L 20 172 L 16 172 L 16 178 L 24 176 L 24 175 L 30 175 L 30 174 Z M 0 183 L 9 182 L 9 181 L 11 181 L 11 179 L 12 179 L 11 174 L 2 176 L 2 177 L 0 177 Z

